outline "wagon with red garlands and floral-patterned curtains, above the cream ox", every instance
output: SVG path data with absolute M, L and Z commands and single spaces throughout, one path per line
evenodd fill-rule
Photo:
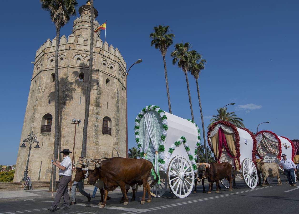
M 281 154 L 286 154 L 288 158 L 294 159 L 295 146 L 293 142 L 286 137 L 277 136 L 271 131 L 260 131 L 255 135 L 257 139 L 257 154 L 265 163 L 275 162 L 279 164 Z M 280 174 L 283 170 L 280 168 Z M 269 184 L 273 178 L 267 177 Z

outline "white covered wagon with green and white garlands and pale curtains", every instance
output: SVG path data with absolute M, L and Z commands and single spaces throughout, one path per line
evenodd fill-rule
M 152 162 L 159 176 L 151 194 L 161 197 L 169 185 L 177 197 L 187 197 L 194 184 L 200 142 L 200 131 L 195 122 L 149 105 L 135 119 L 135 138 L 142 158 Z M 149 183 L 154 179 L 152 171 Z

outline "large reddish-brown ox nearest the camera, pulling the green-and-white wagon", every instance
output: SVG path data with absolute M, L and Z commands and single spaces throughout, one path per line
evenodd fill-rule
M 102 166 L 95 164 L 94 169 L 89 167 L 88 184 L 93 185 L 98 179 L 104 183 L 104 201 L 100 205 L 100 208 L 105 207 L 106 198 L 109 191 L 115 190 L 120 186 L 121 192 L 124 196 L 123 205 L 129 204 L 129 200 L 126 195 L 126 184 L 130 186 L 138 184 L 143 185 L 143 196 L 141 198 L 141 204 L 145 203 L 145 194 L 148 193 L 147 202 L 151 202 L 152 197 L 150 194 L 150 187 L 157 184 L 159 178 L 154 170 L 156 179 L 148 184 L 149 174 L 154 169 L 152 163 L 146 159 L 131 159 L 131 158 L 110 158 L 102 162 Z

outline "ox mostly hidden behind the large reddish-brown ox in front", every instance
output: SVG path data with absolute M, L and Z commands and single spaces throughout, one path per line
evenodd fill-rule
M 104 159 L 108 159 L 108 158 L 104 158 Z M 86 161 L 86 158 L 83 159 Z M 99 160 L 99 159 L 93 159 L 93 160 Z M 84 166 L 86 166 L 87 164 L 84 162 Z M 86 170 L 84 170 L 86 169 Z M 88 173 L 88 170 L 87 168 L 83 168 L 83 167 L 77 167 L 77 170 L 76 170 L 76 174 L 75 174 L 75 178 L 74 180 L 75 181 L 80 181 L 82 179 L 85 178 L 85 174 Z M 101 194 L 101 199 L 100 199 L 100 202 L 98 205 L 100 205 L 103 200 L 104 200 L 104 183 L 103 181 L 101 181 L 100 179 L 94 184 L 95 187 L 99 188 L 100 189 L 100 194 Z M 130 189 L 130 186 L 126 184 L 126 193 L 129 191 Z M 137 189 L 138 189 L 138 186 L 137 185 L 134 185 L 132 186 L 132 190 L 133 190 L 133 195 L 132 195 L 132 198 L 131 198 L 131 201 L 135 201 L 135 195 L 137 193 Z M 110 196 L 107 196 L 107 200 L 110 200 L 111 197 Z M 123 198 L 120 199 L 120 202 L 123 203 Z

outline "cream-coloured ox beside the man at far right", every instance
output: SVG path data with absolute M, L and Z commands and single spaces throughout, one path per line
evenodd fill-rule
M 263 162 L 257 162 L 257 170 L 259 170 L 262 173 L 262 177 L 264 179 L 264 182 L 262 184 L 262 187 L 267 186 L 268 182 L 267 177 L 277 177 L 278 179 L 278 185 L 282 184 L 279 177 L 279 165 L 275 162 L 272 163 L 263 163 Z

